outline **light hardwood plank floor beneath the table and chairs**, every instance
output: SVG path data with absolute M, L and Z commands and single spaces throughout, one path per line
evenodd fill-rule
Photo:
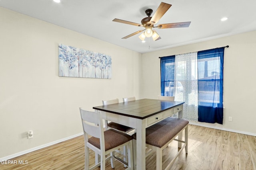
M 256 137 L 189 125 L 188 154 L 185 150 L 171 170 L 256 170 Z M 163 166 L 178 152 L 173 141 L 163 151 Z M 90 162 L 94 153 L 90 151 Z M 84 169 L 84 137 L 40 149 L 12 159 L 24 164 L 0 164 L 0 170 L 82 170 Z M 28 161 L 27 164 L 25 164 Z M 156 168 L 156 154 L 146 157 L 146 169 Z M 100 168 L 96 168 L 99 170 Z M 116 161 L 116 170 L 124 170 Z M 110 161 L 106 170 L 112 170 Z

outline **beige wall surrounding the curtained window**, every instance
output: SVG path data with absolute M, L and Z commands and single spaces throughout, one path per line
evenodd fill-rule
M 141 96 L 157 98 L 160 95 L 160 59 L 158 57 L 226 45 L 230 47 L 225 48 L 224 53 L 225 109 L 223 125 L 217 123 L 198 124 L 256 135 L 256 31 L 142 54 Z M 232 122 L 228 121 L 229 116 L 233 118 Z

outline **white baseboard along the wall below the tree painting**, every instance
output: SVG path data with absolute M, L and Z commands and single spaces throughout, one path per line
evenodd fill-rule
M 51 145 L 55 145 L 55 144 L 57 144 L 57 143 L 61 143 L 61 142 L 67 141 L 67 140 L 69 140 L 69 139 L 72 139 L 72 138 L 75 138 L 75 137 L 78 137 L 78 136 L 81 136 L 81 135 L 84 135 L 84 133 L 78 133 L 78 134 L 76 134 L 76 135 L 72 135 L 72 136 L 70 136 L 70 137 L 66 137 L 66 138 L 60 139 L 60 140 L 58 140 L 58 141 L 53 141 L 53 142 L 46 143 L 46 144 L 41 145 L 41 146 L 38 146 L 38 147 L 34 147 L 34 148 L 32 148 L 32 149 L 24 150 L 24 151 L 22 151 L 22 152 L 18 152 L 18 153 L 16 153 L 16 154 L 12 154 L 12 155 L 10 155 L 10 156 L 6 156 L 6 157 L 3 157 L 3 158 L 0 158 L 0 162 L 1 162 L 2 160 L 9 160 L 9 159 L 15 158 L 15 157 L 17 157 L 17 156 L 21 156 L 21 155 L 23 155 L 23 154 L 27 154 L 27 153 L 33 152 L 33 151 L 35 151 L 35 150 L 39 150 L 39 149 L 43 149 L 43 148 L 49 147 L 49 146 L 51 146 Z

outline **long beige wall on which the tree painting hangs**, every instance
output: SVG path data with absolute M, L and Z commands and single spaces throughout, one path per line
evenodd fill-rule
M 112 79 L 59 77 L 58 43 L 110 55 Z M 140 53 L 2 7 L 0 49 L 0 158 L 82 133 L 79 107 L 140 98 Z

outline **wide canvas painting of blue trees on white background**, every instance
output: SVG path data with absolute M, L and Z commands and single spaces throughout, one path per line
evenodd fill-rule
M 59 76 L 112 78 L 110 56 L 59 44 Z

